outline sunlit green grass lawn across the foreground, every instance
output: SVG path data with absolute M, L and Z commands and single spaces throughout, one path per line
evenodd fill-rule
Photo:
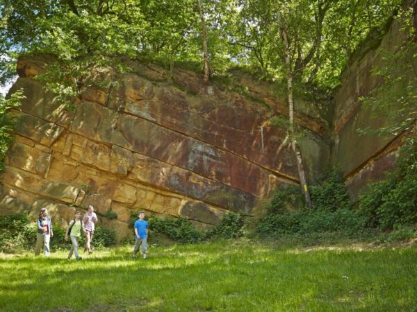
M 417 247 L 226 241 L 0 257 L 1 311 L 417 311 Z

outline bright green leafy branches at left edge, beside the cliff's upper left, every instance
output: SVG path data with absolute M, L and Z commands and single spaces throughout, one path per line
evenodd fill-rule
M 17 122 L 16 117 L 10 115 L 9 112 L 10 109 L 17 109 L 20 106 L 22 98 L 24 98 L 22 91 L 15 92 L 8 99 L 0 94 L 0 172 L 4 170 L 4 157 L 13 141 L 11 132 Z

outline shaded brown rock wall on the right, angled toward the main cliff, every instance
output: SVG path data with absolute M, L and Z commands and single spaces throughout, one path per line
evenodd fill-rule
M 368 96 L 382 83 L 381 78 L 373 76 L 372 70 L 383 64 L 384 53 L 395 53 L 407 40 L 400 28 L 394 20 L 379 46 L 362 52 L 343 74 L 341 88 L 335 96 L 332 164 L 343 169 L 345 184 L 354 199 L 369 182 L 382 179 L 384 171 L 395 167 L 405 135 L 359 135 L 358 132 L 358 129 L 378 129 L 393 122 L 372 116 L 371 108 L 362 105 L 360 98 Z M 392 109 L 395 110 L 395 103 Z

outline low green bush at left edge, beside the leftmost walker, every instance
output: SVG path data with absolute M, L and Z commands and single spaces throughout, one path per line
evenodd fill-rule
M 0 250 L 17 252 L 33 248 L 36 242 L 36 227 L 27 214 L 0 216 Z

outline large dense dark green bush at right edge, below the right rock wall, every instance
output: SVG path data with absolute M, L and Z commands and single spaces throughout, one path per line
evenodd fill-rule
M 395 225 L 417 223 L 417 144 L 407 146 L 407 156 L 398 167 L 386 174 L 380 182 L 370 184 L 368 191 L 359 196 L 358 213 L 368 227 L 383 231 Z

